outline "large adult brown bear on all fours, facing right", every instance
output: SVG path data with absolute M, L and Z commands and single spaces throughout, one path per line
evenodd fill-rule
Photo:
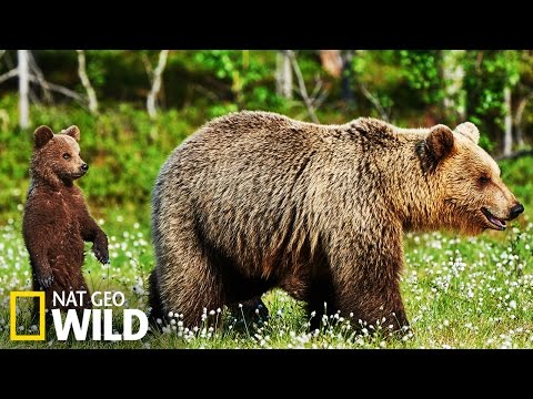
M 266 112 L 211 121 L 155 183 L 154 317 L 172 310 L 198 325 L 204 307 L 280 287 L 316 311 L 312 328 L 325 310 L 406 326 L 404 232 L 501 231 L 524 209 L 477 141 L 469 122 L 409 130 Z

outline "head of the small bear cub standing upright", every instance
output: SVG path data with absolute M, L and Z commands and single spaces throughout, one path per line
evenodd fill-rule
M 89 165 L 80 156 L 80 130 L 73 125 L 60 134 L 53 134 L 48 126 L 40 126 L 33 133 L 33 156 L 31 173 L 51 185 L 71 185 L 83 176 Z

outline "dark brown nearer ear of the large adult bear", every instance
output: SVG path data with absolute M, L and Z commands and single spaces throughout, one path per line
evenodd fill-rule
M 452 154 L 453 145 L 453 132 L 450 127 L 442 124 L 431 127 L 428 137 L 416 144 L 422 170 L 434 171 L 440 162 Z

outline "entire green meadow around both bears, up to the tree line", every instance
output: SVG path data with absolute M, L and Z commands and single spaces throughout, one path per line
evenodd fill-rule
M 2 105 L 13 109 L 11 103 Z M 91 290 L 120 290 L 127 296 L 125 307 L 148 311 L 147 283 L 154 264 L 149 221 L 151 184 L 173 146 L 207 115 L 171 111 L 155 124 L 123 108 L 99 119 L 61 108 L 36 108 L 32 115 L 33 125 L 48 123 L 58 131 L 76 121 L 81 129 L 82 156 L 91 170 L 79 183 L 92 214 L 110 238 L 110 265 L 100 265 L 90 252 L 91 244 L 87 245 L 84 273 Z M 161 332 L 148 334 L 140 341 L 63 342 L 50 337 L 38 342 L 11 341 L 9 294 L 31 289 L 31 269 L 21 235 L 31 132 L 17 131 L 10 124 L 14 122 L 7 123 L 0 130 L 0 348 L 533 347 L 531 157 L 501 163 L 504 181 L 526 208 L 505 232 L 486 232 L 475 238 L 439 232 L 405 236 L 402 293 L 412 332 L 402 339 L 385 339 L 386 320 L 355 334 L 349 324 L 350 315 L 331 316 L 322 320 L 320 330 L 310 331 L 302 304 L 274 290 L 263 298 L 270 318 L 244 328 L 239 317 L 230 317 L 225 309 L 208 309 L 207 318 L 223 318 L 220 330 L 184 329 L 180 315 L 173 315 Z M 19 332 L 31 329 L 27 305 L 20 303 Z M 120 319 L 115 328 L 120 330 Z

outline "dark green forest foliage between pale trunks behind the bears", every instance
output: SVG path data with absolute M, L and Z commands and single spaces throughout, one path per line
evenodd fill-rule
M 306 117 L 302 99 L 275 94 L 276 52 L 269 50 L 172 50 L 163 74 L 158 102 L 164 110 L 205 109 L 215 116 L 232 110 L 271 110 Z M 78 76 L 74 50 L 33 51 L 46 79 L 84 94 Z M 150 88 L 149 70 L 158 61 L 158 50 L 88 50 L 88 75 L 95 89 L 101 110 L 113 102 L 144 106 Z M 503 89 L 512 89 L 513 113 L 533 92 L 533 52 L 469 50 L 358 50 L 351 70 L 343 76 L 329 75 L 319 51 L 295 51 L 308 91 L 315 84 L 326 92 L 316 110 L 321 121 L 335 122 L 360 115 L 386 117 L 403 126 L 455 124 L 464 119 L 480 126 L 482 145 L 497 151 L 503 141 L 505 108 Z M 459 55 L 457 55 L 459 54 Z M 450 61 L 452 60 L 452 61 Z M 0 74 L 17 63 L 14 50 L 0 59 Z M 450 65 L 453 64 L 453 68 Z M 464 79 L 449 72 L 464 71 Z M 348 76 L 348 78 L 346 78 Z M 346 84 L 346 82 L 349 82 Z M 459 86 L 456 86 L 459 85 Z M 294 80 L 294 86 L 298 82 Z M 37 89 L 32 84 L 33 89 Z M 0 95 L 17 90 L 12 79 L 0 85 Z M 36 98 L 42 98 L 40 89 Z M 53 93 L 56 103 L 71 100 Z M 465 112 L 463 112 L 465 110 Z M 185 111 L 189 112 L 189 111 Z M 533 129 L 531 101 L 525 106 L 521 127 L 527 141 Z M 0 123 L 2 123 L 0 114 Z

